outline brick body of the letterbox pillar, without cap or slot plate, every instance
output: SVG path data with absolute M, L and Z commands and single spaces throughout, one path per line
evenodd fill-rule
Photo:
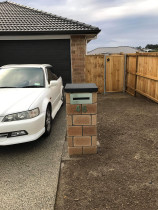
M 69 155 L 97 153 L 97 93 L 92 104 L 70 104 L 66 93 L 67 142 Z

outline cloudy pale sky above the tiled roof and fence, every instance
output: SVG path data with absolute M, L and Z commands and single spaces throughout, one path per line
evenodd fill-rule
M 0 0 L 2 2 L 3 0 Z M 158 0 L 13 0 L 13 2 L 101 29 L 88 51 L 98 47 L 158 44 Z

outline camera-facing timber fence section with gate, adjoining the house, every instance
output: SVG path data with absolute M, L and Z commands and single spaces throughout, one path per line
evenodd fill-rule
M 85 81 L 95 83 L 98 92 L 121 92 L 124 89 L 124 55 L 87 55 Z

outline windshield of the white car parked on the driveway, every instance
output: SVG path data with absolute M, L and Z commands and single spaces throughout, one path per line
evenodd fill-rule
M 0 68 L 0 88 L 39 87 L 44 87 L 44 72 L 42 68 Z

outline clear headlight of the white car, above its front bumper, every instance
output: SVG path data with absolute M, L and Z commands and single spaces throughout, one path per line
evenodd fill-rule
M 39 108 L 35 108 L 26 112 L 18 112 L 15 114 L 9 114 L 3 118 L 2 122 L 11 122 L 11 121 L 17 121 L 17 120 L 31 119 L 31 118 L 37 117 L 39 113 L 40 113 Z

